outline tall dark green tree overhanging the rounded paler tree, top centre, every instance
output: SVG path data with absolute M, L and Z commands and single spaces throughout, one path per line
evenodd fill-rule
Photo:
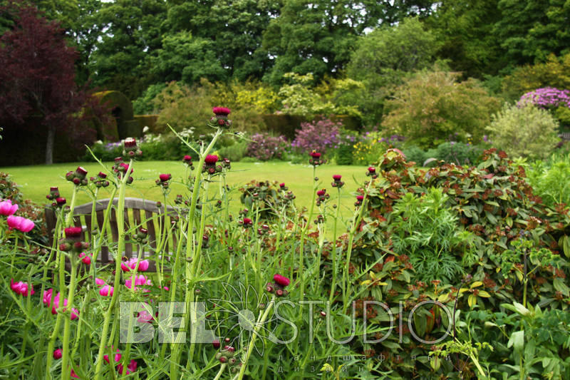
M 264 33 L 263 46 L 274 56 L 265 77 L 277 85 L 284 73 L 342 71 L 358 36 L 380 24 L 393 24 L 409 14 L 428 14 L 432 1 L 286 0 L 278 18 Z

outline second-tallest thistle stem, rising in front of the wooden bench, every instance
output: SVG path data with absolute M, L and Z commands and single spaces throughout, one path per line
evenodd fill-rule
M 129 171 L 133 169 L 133 159 L 129 162 Z M 113 296 L 111 297 L 111 301 L 109 303 L 107 312 L 105 312 L 105 317 L 103 319 L 103 332 L 101 333 L 101 342 L 99 345 L 99 351 L 97 355 L 97 365 L 95 366 L 95 380 L 101 379 L 101 367 L 103 366 L 103 350 L 105 349 L 105 345 L 107 344 L 107 333 L 109 330 L 109 322 L 111 318 L 111 314 L 113 314 L 113 309 L 115 307 L 115 303 L 119 297 L 120 293 L 120 264 L 121 264 L 121 255 L 123 255 L 123 250 L 125 250 L 125 193 L 127 189 L 127 180 L 129 178 L 129 173 L 123 173 L 123 178 L 120 180 L 119 185 L 119 200 L 117 205 L 117 226 L 119 229 L 119 240 L 117 243 L 117 255 L 115 256 L 115 282 L 114 289 L 113 289 Z M 111 200 L 112 201 L 112 200 Z M 111 336 L 113 339 L 113 336 Z

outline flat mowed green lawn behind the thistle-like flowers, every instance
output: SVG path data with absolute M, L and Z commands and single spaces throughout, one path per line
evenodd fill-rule
M 57 186 L 62 197 L 71 202 L 73 184 L 65 179 L 65 174 L 70 170 L 75 170 L 78 166 L 83 166 L 88 170 L 88 177 L 96 176 L 100 171 L 105 172 L 98 163 L 65 163 L 54 165 L 34 165 L 34 166 L 14 166 L 0 168 L 0 172 L 9 173 L 24 193 L 24 197 L 39 204 L 46 204 L 46 195 L 51 186 Z M 113 163 L 105 163 L 109 173 Z M 170 185 L 169 201 L 172 202 L 177 194 L 184 197 L 190 196 L 189 190 L 182 184 L 186 172 L 185 165 L 177 161 L 142 161 L 133 165 L 135 181 L 127 190 L 128 197 L 139 197 L 148 200 L 161 200 L 162 190 L 156 185 L 158 175 L 161 173 L 172 174 Z M 197 170 L 197 169 L 195 169 Z M 351 194 L 358 188 L 358 184 L 366 180 L 366 168 L 361 166 L 346 165 L 322 165 L 316 169 L 319 178 L 319 188 L 326 188 L 331 195 L 329 205 L 336 203 L 337 191 L 331 187 L 334 174 L 343 176 L 345 185 L 341 190 L 341 215 L 343 219 L 351 217 L 354 210 L 355 197 Z M 230 212 L 237 213 L 243 206 L 239 202 L 239 188 L 249 183 L 251 180 L 276 180 L 285 183 L 289 190 L 296 195 L 296 207 L 307 207 L 309 209 L 313 197 L 313 168 L 309 165 L 295 165 L 284 162 L 269 163 L 232 163 L 232 170 L 227 175 L 227 184 L 233 188 L 230 197 Z M 220 183 L 219 177 L 214 178 L 214 183 L 209 185 L 209 198 L 219 199 Z M 356 182 L 358 181 L 358 183 Z M 110 188 L 108 188 L 110 189 Z M 109 190 L 101 190 L 99 198 L 109 196 Z M 86 192 L 79 192 L 76 205 L 90 202 L 90 197 Z M 330 209 L 332 211 L 332 209 Z M 315 207 L 315 212 L 318 208 Z M 236 215 L 237 216 L 237 215 Z M 314 218 L 313 218 L 314 219 Z M 328 233 L 331 235 L 332 223 L 328 222 Z M 339 232 L 343 232 L 343 227 L 339 227 Z

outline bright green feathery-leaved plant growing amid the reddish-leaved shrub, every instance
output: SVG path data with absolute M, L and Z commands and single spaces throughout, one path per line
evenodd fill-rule
M 421 197 L 408 192 L 395 202 L 388 219 L 393 251 L 410 257 L 421 281 L 454 283 L 462 274 L 454 251 L 463 237 L 448 200 L 440 188 L 430 188 Z

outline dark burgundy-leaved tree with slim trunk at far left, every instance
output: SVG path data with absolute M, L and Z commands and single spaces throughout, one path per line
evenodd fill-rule
M 39 16 L 35 7 L 9 6 L 0 13 L 15 22 L 0 37 L 0 122 L 26 128 L 26 122 L 39 120 L 48 132 L 46 163 L 52 163 L 56 130 L 68 125 L 86 99 L 75 82 L 78 53 L 67 46 L 58 23 Z

